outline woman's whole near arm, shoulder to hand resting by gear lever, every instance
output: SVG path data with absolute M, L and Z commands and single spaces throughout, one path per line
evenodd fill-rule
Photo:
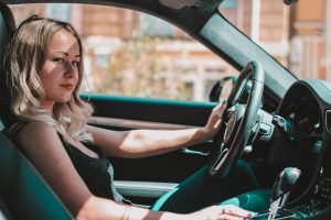
M 28 158 L 70 209 L 81 220 L 94 219 L 237 219 L 248 212 L 236 207 L 224 213 L 222 207 L 210 207 L 191 215 L 151 211 L 138 207 L 120 205 L 114 200 L 95 197 L 76 172 L 56 131 L 43 122 L 32 122 L 18 135 L 18 143 Z M 231 215 L 231 218 L 227 216 Z

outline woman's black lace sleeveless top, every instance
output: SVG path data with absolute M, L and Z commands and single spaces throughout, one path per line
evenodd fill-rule
M 77 173 L 93 195 L 114 199 L 118 202 L 130 204 L 130 201 L 116 190 L 114 186 L 114 168 L 99 147 L 84 143 L 86 147 L 99 155 L 98 158 L 90 157 L 71 143 L 64 141 L 61 134 L 58 136 Z

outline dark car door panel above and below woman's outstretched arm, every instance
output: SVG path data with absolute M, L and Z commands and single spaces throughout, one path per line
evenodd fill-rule
M 114 130 L 203 127 L 216 103 L 83 95 L 94 106 L 90 124 Z M 180 183 L 204 166 L 212 142 L 145 158 L 110 157 L 116 179 Z M 195 154 L 202 152 L 202 154 Z

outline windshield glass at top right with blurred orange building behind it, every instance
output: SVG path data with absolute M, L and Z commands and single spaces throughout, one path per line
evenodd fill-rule
M 331 1 L 225 0 L 220 12 L 299 79 L 331 78 Z

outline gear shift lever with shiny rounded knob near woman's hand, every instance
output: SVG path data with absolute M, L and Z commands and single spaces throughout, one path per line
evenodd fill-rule
M 285 168 L 277 177 L 270 196 L 270 208 L 268 220 L 275 219 L 277 211 L 281 209 L 289 197 L 292 186 L 297 183 L 301 172 L 298 168 Z

